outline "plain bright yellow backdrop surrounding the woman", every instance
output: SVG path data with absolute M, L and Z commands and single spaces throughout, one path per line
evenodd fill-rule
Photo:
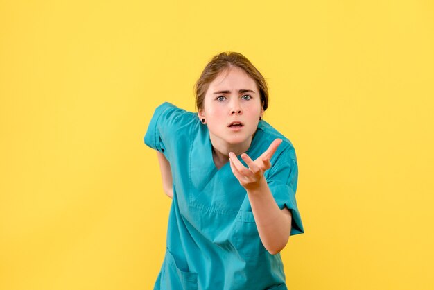
M 433 1 L 0 1 L 0 289 L 152 289 L 144 145 L 220 51 L 268 80 L 305 234 L 290 289 L 434 289 Z

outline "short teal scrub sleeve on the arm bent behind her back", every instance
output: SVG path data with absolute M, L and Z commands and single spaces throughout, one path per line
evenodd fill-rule
M 163 153 L 170 161 L 175 150 L 177 130 L 185 128 L 186 120 L 191 119 L 190 112 L 164 102 L 159 105 L 150 119 L 144 142 L 150 148 Z

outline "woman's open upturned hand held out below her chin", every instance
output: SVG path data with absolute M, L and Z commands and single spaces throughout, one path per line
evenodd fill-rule
M 245 189 L 253 190 L 259 188 L 263 179 L 263 173 L 267 169 L 270 169 L 271 157 L 275 154 L 277 147 L 279 147 L 281 142 L 282 139 L 275 139 L 268 149 L 254 161 L 247 154 L 241 154 L 241 159 L 244 160 L 248 167 L 245 167 L 240 160 L 236 158 L 236 155 L 233 152 L 229 153 L 229 164 L 232 173 L 234 173 L 236 179 L 238 179 Z

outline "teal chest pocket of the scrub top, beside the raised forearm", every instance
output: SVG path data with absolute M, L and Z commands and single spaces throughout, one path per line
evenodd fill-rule
M 266 253 L 259 237 L 253 212 L 240 210 L 236 216 L 235 244 L 238 254 L 247 260 L 257 259 Z

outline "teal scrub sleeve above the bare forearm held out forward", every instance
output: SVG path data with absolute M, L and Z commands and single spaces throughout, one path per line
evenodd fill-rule
M 297 201 L 295 200 L 297 179 L 297 160 L 293 158 L 278 162 L 275 167 L 270 169 L 270 175 L 267 178 L 268 187 L 279 208 L 283 210 L 286 206 L 293 215 L 291 236 L 304 233 L 302 219 L 298 211 Z

